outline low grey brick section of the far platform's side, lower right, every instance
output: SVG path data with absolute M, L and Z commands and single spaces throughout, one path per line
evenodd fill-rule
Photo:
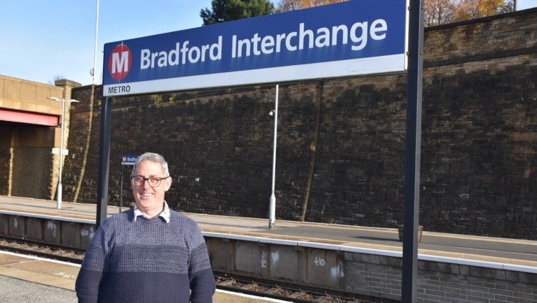
M 416 302 L 535 302 L 534 272 L 471 263 L 419 260 Z M 400 257 L 345 252 L 345 267 L 348 292 L 401 299 Z

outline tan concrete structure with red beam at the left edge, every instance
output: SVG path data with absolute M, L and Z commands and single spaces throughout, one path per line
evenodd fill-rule
M 0 195 L 53 199 L 59 177 L 62 102 L 80 84 L 56 80 L 56 86 L 0 75 Z M 64 149 L 69 137 L 66 102 Z

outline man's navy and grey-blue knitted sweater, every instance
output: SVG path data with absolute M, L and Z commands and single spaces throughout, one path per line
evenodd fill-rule
M 192 219 L 170 211 L 105 220 L 91 239 L 76 282 L 85 302 L 212 302 L 215 280 L 204 237 Z

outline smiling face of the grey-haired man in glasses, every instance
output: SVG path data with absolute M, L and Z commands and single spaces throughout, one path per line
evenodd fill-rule
M 133 172 L 133 176 L 140 176 L 144 178 L 149 177 L 167 177 L 162 173 L 162 165 L 158 162 L 144 160 L 140 162 Z M 145 181 L 142 186 L 133 187 L 133 195 L 136 201 L 136 206 L 143 213 L 150 217 L 160 214 L 162 211 L 162 203 L 164 202 L 165 192 L 172 185 L 172 178 L 162 179 L 160 186 L 151 187 L 149 183 Z

